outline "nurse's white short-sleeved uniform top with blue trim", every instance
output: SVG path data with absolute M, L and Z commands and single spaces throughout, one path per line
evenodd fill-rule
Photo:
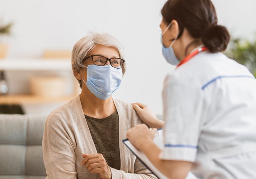
M 195 162 L 201 179 L 256 179 L 256 79 L 201 52 L 166 77 L 161 159 Z

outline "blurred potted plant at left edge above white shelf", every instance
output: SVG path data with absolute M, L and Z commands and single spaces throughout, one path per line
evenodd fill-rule
M 8 45 L 3 42 L 6 35 L 9 35 L 11 33 L 12 29 L 12 23 L 8 23 L 6 25 L 0 24 L 0 59 L 3 59 L 6 57 Z

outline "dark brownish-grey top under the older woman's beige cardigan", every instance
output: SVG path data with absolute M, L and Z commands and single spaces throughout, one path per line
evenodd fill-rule
M 103 119 L 85 116 L 98 153 L 102 153 L 108 166 L 120 170 L 119 118 L 115 111 Z

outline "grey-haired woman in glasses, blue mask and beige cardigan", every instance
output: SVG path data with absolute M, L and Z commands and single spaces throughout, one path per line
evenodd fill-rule
M 125 73 L 120 43 L 91 33 L 72 51 L 73 74 L 81 94 L 53 111 L 44 128 L 47 178 L 155 178 L 122 143 L 142 123 L 130 104 L 112 98 Z

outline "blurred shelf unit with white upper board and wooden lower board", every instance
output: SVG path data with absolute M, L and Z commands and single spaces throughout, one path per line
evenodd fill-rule
M 0 60 L 3 71 L 72 71 L 70 59 L 5 59 Z M 76 82 L 76 80 L 74 80 Z M 74 82 L 74 83 L 75 83 Z M 35 95 L 3 95 L 0 104 L 47 104 L 67 102 L 78 95 L 79 86 L 76 82 L 74 94 L 63 97 L 40 97 Z

